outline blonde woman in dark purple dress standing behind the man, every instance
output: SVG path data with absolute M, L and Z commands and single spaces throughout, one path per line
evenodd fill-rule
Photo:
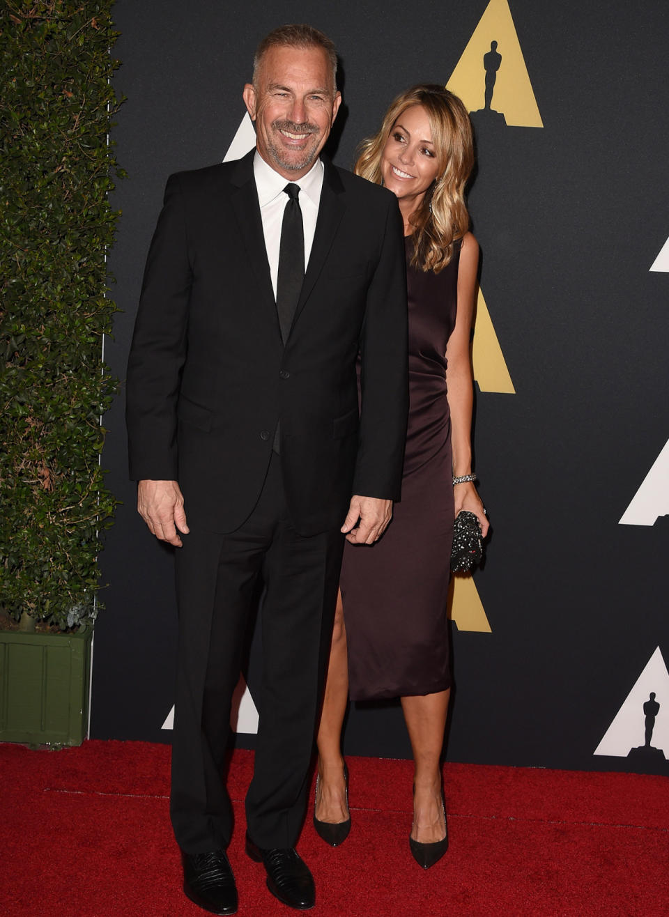
M 440 757 L 451 672 L 446 602 L 453 520 L 488 528 L 472 474 L 470 336 L 478 245 L 464 187 L 474 166 L 463 103 L 418 85 L 362 144 L 355 171 L 396 194 L 404 217 L 409 416 L 402 500 L 372 547 L 346 545 L 318 730 L 314 824 L 331 845 L 351 817 L 341 727 L 352 700 L 400 697 L 415 762 L 409 845 L 422 867 L 448 845 Z M 348 661 L 348 665 L 347 665 Z

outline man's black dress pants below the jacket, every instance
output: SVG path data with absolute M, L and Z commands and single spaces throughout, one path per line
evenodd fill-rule
M 187 512 L 186 505 L 186 512 Z M 233 691 L 262 575 L 262 691 L 247 827 L 261 847 L 295 846 L 329 658 L 343 536 L 300 536 L 273 453 L 255 509 L 231 534 L 192 531 L 176 551 L 179 651 L 171 815 L 177 843 L 225 847 L 232 808 L 220 777 Z

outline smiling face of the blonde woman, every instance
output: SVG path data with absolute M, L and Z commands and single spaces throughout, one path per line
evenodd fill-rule
M 416 206 L 439 172 L 429 117 L 422 105 L 411 105 L 397 118 L 381 154 L 386 188 L 399 200 L 414 199 Z

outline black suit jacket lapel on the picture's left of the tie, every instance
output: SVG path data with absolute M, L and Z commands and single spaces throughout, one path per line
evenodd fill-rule
M 262 233 L 262 217 L 258 193 L 253 179 L 253 156 L 255 148 L 242 157 L 237 164 L 237 169 L 232 174 L 232 183 L 237 189 L 231 195 L 232 206 L 240 225 L 241 238 L 244 240 L 249 258 L 249 273 L 258 284 L 259 292 L 263 299 L 273 310 L 276 326 L 279 330 L 279 320 L 276 315 L 276 303 L 270 277 L 270 265 L 267 260 L 265 238 Z

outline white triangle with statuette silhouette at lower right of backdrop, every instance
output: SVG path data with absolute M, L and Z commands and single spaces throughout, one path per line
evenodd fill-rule
M 644 703 L 651 694 L 660 705 L 652 728 L 651 746 L 661 748 L 669 758 L 669 672 L 664 665 L 658 646 L 636 684 L 628 694 L 619 712 L 610 724 L 604 738 L 597 746 L 596 755 L 628 757 L 630 749 L 640 748 L 645 741 Z M 651 702 L 652 703 L 652 702 Z

